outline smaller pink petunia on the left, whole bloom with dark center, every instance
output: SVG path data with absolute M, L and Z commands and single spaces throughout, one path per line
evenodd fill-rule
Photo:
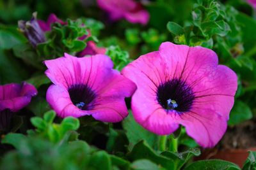
M 45 74 L 54 83 L 47 90 L 47 102 L 60 117 L 92 115 L 102 122 L 119 122 L 128 112 L 125 97 L 136 85 L 113 69 L 107 55 L 46 60 Z

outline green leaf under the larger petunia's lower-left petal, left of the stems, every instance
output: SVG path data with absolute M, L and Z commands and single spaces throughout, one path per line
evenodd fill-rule
M 132 114 L 129 113 L 128 117 L 122 122 L 126 136 L 129 140 L 129 149 L 141 140 L 147 141 L 148 145 L 154 147 L 157 145 L 157 135 L 147 131 L 137 122 L 135 122 Z

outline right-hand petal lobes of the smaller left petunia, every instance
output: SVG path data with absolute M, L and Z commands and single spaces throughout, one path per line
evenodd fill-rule
M 95 87 L 99 90 L 96 91 L 97 99 L 93 102 L 93 109 L 90 110 L 92 116 L 102 122 L 120 122 L 127 117 L 124 98 L 132 96 L 136 85 L 115 70 L 109 71 L 103 82 L 96 84 L 100 86 Z

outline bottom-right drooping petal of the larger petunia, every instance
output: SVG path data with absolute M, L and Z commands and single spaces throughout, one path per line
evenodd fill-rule
M 175 117 L 178 124 L 186 127 L 191 138 L 204 148 L 215 146 L 227 129 L 227 120 L 215 110 L 197 109 Z

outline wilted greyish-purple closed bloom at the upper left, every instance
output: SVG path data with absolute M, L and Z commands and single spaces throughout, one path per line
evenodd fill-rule
M 45 33 L 38 25 L 36 20 L 36 13 L 33 13 L 33 17 L 30 21 L 19 20 L 19 30 L 25 34 L 31 45 L 36 47 L 38 43 L 44 43 L 46 41 Z

